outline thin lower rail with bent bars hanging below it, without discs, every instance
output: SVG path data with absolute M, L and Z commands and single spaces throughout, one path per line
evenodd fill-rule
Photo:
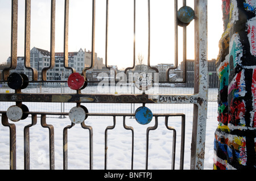
M 2 125 L 9 127 L 10 129 L 10 169 L 16 169 L 16 127 L 15 124 L 9 123 L 5 111 L 0 111 L 2 114 Z M 40 115 L 40 123 L 43 128 L 48 128 L 49 130 L 49 169 L 55 169 L 55 151 L 54 151 L 54 128 L 53 125 L 46 123 L 46 115 L 65 115 L 67 112 L 24 112 L 31 115 L 31 124 L 24 127 L 24 169 L 30 169 L 30 128 L 36 125 L 38 116 Z M 126 117 L 134 116 L 133 113 L 88 113 L 88 116 L 110 116 L 113 117 L 113 125 L 108 126 L 105 129 L 105 166 L 107 169 L 108 165 L 108 130 L 115 128 L 116 117 L 123 117 L 123 128 L 130 130 L 132 133 L 131 142 L 131 169 L 133 169 L 134 163 L 134 131 L 133 127 L 128 127 L 126 125 Z M 184 140 L 185 140 L 185 115 L 183 113 L 156 113 L 153 115 L 155 117 L 154 127 L 148 127 L 146 131 L 146 169 L 148 169 L 148 143 L 149 143 L 149 132 L 158 128 L 158 117 L 165 117 L 165 125 L 168 130 L 173 131 L 173 145 L 172 145 L 172 163 L 171 169 L 175 169 L 175 153 L 176 153 L 176 130 L 174 127 L 168 126 L 169 117 L 181 117 L 181 148 L 180 148 L 180 169 L 183 169 L 184 165 Z M 75 124 L 71 123 L 63 129 L 63 169 L 68 169 L 68 129 L 71 129 Z M 84 122 L 81 123 L 83 129 L 88 129 L 89 131 L 89 169 L 93 169 L 93 128 L 85 125 Z

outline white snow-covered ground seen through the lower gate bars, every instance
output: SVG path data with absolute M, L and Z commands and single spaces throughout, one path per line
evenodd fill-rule
M 87 88 L 87 87 L 86 87 Z M 174 87 L 172 94 L 175 93 Z M 184 89 L 184 88 L 182 88 Z M 28 89 L 27 89 L 28 90 Z M 169 89 L 170 90 L 170 89 Z M 177 89 L 177 91 L 180 90 Z M 2 89 L 2 91 L 5 91 Z M 29 91 L 29 90 L 28 90 Z M 46 93 L 51 90 L 42 90 Z M 56 90 L 57 91 L 57 90 Z M 68 90 L 65 90 L 67 92 Z M 161 90 L 162 91 L 162 90 Z M 184 94 L 191 94 L 187 89 Z M 31 90 L 36 92 L 36 90 Z M 180 94 L 180 92 L 179 92 Z M 217 98 L 217 90 L 209 89 L 209 95 Z M 210 99 L 210 98 L 209 98 Z M 0 110 L 6 111 L 13 103 L 0 102 Z M 30 111 L 59 112 L 60 103 L 24 103 Z M 130 113 L 132 104 L 83 104 L 89 112 L 122 112 Z M 62 105 L 63 106 L 63 105 Z M 64 112 L 68 112 L 72 103 L 65 103 Z M 141 105 L 135 104 L 135 110 Z M 153 113 L 185 113 L 185 157 L 184 169 L 190 167 L 190 149 L 192 137 L 192 104 L 146 104 Z M 133 111 L 133 110 L 132 110 Z M 113 130 L 108 131 L 108 169 L 131 168 L 131 131 L 123 128 L 123 117 L 117 117 L 117 124 Z M 148 169 L 171 169 L 172 162 L 172 131 L 164 125 L 164 118 L 159 117 L 159 125 L 155 131 L 150 131 Z M 16 165 L 17 169 L 24 168 L 23 161 L 23 129 L 31 124 L 31 117 L 16 122 Z M 69 118 L 59 119 L 48 117 L 47 124 L 52 124 L 55 131 L 55 169 L 63 169 L 63 128 L 71 125 Z M 113 125 L 113 117 L 93 117 L 85 120 L 86 125 L 93 127 L 93 169 L 104 169 L 104 136 L 105 129 Z M 134 169 L 145 169 L 146 161 L 146 129 L 155 125 L 153 119 L 148 125 L 140 125 L 135 119 L 126 117 L 126 125 L 134 128 Z M 180 132 L 181 118 L 170 117 L 168 126 L 177 131 L 175 169 L 179 169 L 180 159 Z M 217 102 L 208 102 L 208 119 L 205 142 L 204 169 L 213 167 L 213 140 L 217 127 Z M 9 128 L 0 124 L 0 169 L 9 169 Z M 38 123 L 30 128 L 30 168 L 49 169 L 48 129 Z M 89 169 L 89 132 L 80 125 L 68 129 L 68 169 Z

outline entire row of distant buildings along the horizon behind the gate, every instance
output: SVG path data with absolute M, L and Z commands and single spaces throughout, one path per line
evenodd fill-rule
M 69 52 L 68 53 L 68 66 L 74 68 L 77 72 L 82 73 L 82 70 L 85 67 L 90 67 L 92 60 L 92 52 L 80 49 L 78 52 Z M 7 59 L 7 65 L 10 64 L 11 58 Z M 215 68 L 216 60 L 208 61 L 208 80 L 209 88 L 218 87 L 218 77 L 216 74 Z M 38 79 L 41 79 L 41 70 L 45 67 L 48 67 L 50 64 L 50 52 L 48 50 L 43 50 L 40 48 L 32 48 L 30 51 L 30 66 L 39 71 Z M 110 66 L 113 69 L 121 72 L 123 70 L 118 70 L 117 66 Z M 184 79 L 184 62 L 174 69 L 174 64 L 158 64 L 152 66 L 152 68 L 157 68 L 159 70 L 159 82 L 167 81 L 167 76 L 172 82 L 180 82 Z M 170 69 L 173 68 L 173 69 Z M 166 75 L 166 71 L 168 75 Z M 32 71 L 24 68 L 24 57 L 18 57 L 17 68 L 15 70 L 17 73 L 24 73 L 28 76 L 29 79 L 32 77 Z M 127 71 L 133 73 L 141 73 L 143 71 L 154 73 L 155 70 L 148 68 L 147 65 L 136 65 L 135 69 Z M 86 78 L 89 81 L 101 81 L 102 77 L 99 77 L 98 74 L 105 72 L 110 78 L 110 71 L 106 69 L 103 58 L 97 57 L 97 53 L 94 53 L 94 67 L 86 71 Z M 64 53 L 56 52 L 55 53 L 55 67 L 47 71 L 47 81 L 60 81 L 67 80 L 71 70 L 64 68 Z M 129 78 L 129 76 L 127 76 Z M 129 81 L 129 80 L 127 80 Z M 177 84 L 176 84 L 177 85 Z M 179 86 L 193 87 L 194 86 L 194 61 L 187 60 L 187 81 L 184 84 L 179 84 Z

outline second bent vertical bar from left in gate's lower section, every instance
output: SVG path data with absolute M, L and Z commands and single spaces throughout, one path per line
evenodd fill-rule
M 24 127 L 24 169 L 30 170 L 30 127 L 37 122 L 37 115 L 32 115 L 32 123 Z

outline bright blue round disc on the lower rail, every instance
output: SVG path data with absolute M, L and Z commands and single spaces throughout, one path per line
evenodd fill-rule
M 139 124 L 146 125 L 151 122 L 152 118 L 153 114 L 147 107 L 142 106 L 135 111 L 135 119 Z

